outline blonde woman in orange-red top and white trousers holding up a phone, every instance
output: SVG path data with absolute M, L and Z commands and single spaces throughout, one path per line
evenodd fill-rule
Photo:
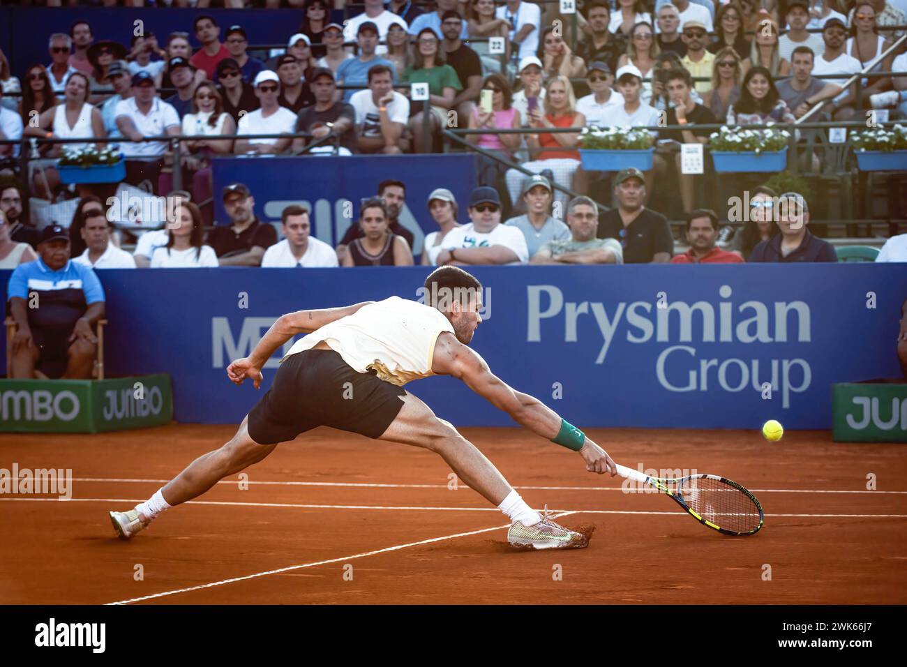
M 581 128 L 586 124 L 586 117 L 576 111 L 576 98 L 573 87 L 565 76 L 555 76 L 548 82 L 548 94 L 544 101 L 544 115 L 536 108 L 529 114 L 532 128 L 542 130 L 549 127 Z M 580 152 L 577 144 L 580 132 L 559 132 L 530 134 L 527 140 L 532 162 L 522 165 L 523 169 L 540 173 L 550 169 L 554 180 L 564 188 L 572 186 L 573 174 L 580 166 Z M 507 172 L 507 190 L 511 201 L 517 201 L 524 176 L 515 169 Z M 565 195 L 558 193 L 558 200 L 565 201 Z

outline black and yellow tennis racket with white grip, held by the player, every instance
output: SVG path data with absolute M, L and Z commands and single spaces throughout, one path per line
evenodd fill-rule
M 700 524 L 725 535 L 755 535 L 765 524 L 762 505 L 743 486 L 717 475 L 650 477 L 618 464 L 618 474 L 668 494 Z

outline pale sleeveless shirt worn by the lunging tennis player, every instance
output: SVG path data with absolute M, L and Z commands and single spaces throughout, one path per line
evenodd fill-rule
M 444 331 L 453 327 L 440 310 L 391 297 L 300 338 L 280 361 L 324 340 L 356 372 L 374 369 L 378 378 L 403 387 L 434 375 L 434 343 Z

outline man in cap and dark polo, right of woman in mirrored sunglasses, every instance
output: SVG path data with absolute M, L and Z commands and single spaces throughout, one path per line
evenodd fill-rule
M 809 224 L 809 207 L 803 195 L 785 192 L 781 195 L 778 227 L 781 233 L 761 241 L 747 261 L 837 261 L 834 246 L 813 236 Z

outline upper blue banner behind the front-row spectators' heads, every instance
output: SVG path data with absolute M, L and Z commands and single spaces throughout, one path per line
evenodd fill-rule
M 212 162 L 214 217 L 229 222 L 219 192 L 243 182 L 255 197 L 262 220 L 280 221 L 280 211 L 304 204 L 312 215 L 312 233 L 336 246 L 359 218 L 359 202 L 375 197 L 378 183 L 396 179 L 406 184 L 406 205 L 400 223 L 414 234 L 413 252 L 422 252 L 424 235 L 437 230 L 428 213 L 428 195 L 447 188 L 460 202 L 461 221 L 468 221 L 466 204 L 475 182 L 472 155 L 355 155 L 330 157 L 216 158 Z

